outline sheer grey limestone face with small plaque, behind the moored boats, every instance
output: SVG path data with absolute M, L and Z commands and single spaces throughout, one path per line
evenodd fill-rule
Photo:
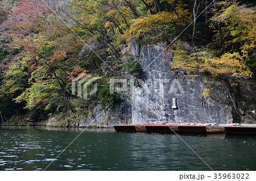
M 224 83 L 203 75 L 185 78 L 174 73 L 162 45 L 133 44 L 131 52 L 142 66 L 139 86 L 131 94 L 131 123 L 232 123 L 233 105 Z M 176 100 L 176 108 L 172 103 Z

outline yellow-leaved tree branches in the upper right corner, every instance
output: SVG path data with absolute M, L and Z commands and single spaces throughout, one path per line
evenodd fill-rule
M 221 33 L 217 31 L 216 39 L 221 37 L 222 40 L 225 40 L 223 44 L 232 43 L 233 47 L 236 45 L 236 48 L 241 50 L 241 56 L 248 57 L 249 53 L 255 48 L 255 7 L 240 6 L 236 1 L 224 1 L 218 3 L 218 5 L 221 6 L 221 10 L 211 18 L 222 30 Z

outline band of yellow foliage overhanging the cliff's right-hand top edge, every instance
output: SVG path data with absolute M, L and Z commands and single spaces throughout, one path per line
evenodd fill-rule
M 175 54 L 173 57 L 174 61 L 170 62 L 172 69 L 199 70 L 201 72 L 210 72 L 213 76 L 253 76 L 253 73 L 245 65 L 244 57 L 239 52 L 228 52 L 220 57 L 216 57 L 208 49 L 191 50 L 191 48 L 186 47 L 185 44 L 177 43 L 174 50 L 169 50 Z M 193 51 L 196 51 L 196 53 L 190 53 Z

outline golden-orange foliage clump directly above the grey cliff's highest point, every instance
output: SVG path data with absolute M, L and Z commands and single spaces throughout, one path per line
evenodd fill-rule
M 147 4 L 154 4 L 155 1 L 147 1 Z M 163 1 L 161 1 L 163 3 Z M 189 9 L 181 1 L 165 1 L 171 4 L 167 10 L 150 14 L 143 18 L 137 18 L 126 30 L 123 39 L 131 40 L 133 37 L 143 36 L 144 41 L 166 41 L 166 38 L 175 36 L 177 32 L 184 30 L 185 24 L 191 21 Z M 152 12 L 151 12 L 152 13 Z M 181 30 L 182 29 L 182 30 Z M 151 41 L 151 43 L 152 43 Z

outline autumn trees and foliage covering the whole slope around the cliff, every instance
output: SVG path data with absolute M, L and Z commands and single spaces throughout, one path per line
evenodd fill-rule
M 109 79 L 142 71 L 125 56 L 134 41 L 166 44 L 173 69 L 201 71 L 228 86 L 255 82 L 255 5 L 248 1 L 5 0 L 0 23 L 3 121 L 118 102 Z M 97 79 L 96 95 L 72 94 L 72 81 L 82 79 Z

